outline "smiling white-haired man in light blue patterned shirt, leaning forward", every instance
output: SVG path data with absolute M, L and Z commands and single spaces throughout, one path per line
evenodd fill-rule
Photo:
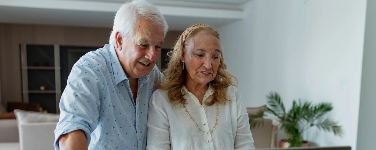
M 59 104 L 56 149 L 146 149 L 148 102 L 163 76 L 155 64 L 167 28 L 148 1 L 120 7 L 109 44 L 72 68 Z

